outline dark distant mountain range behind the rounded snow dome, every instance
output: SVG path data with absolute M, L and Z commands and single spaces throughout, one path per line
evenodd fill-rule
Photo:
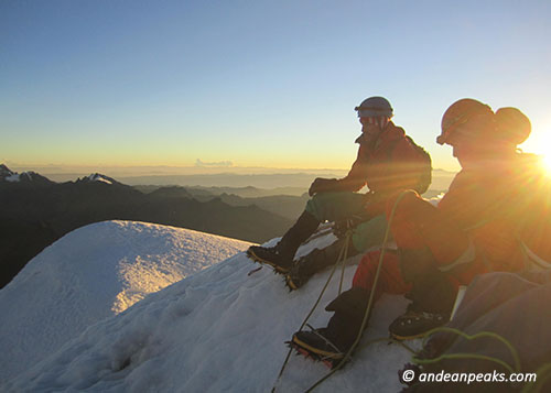
M 196 197 L 183 187 L 161 187 L 144 194 L 101 174 L 55 183 L 34 172 L 14 173 L 2 164 L 0 285 L 6 285 L 42 249 L 93 222 L 145 221 L 251 242 L 281 236 L 292 223 L 290 218 L 273 212 L 277 209 L 269 211 L 253 205 L 255 200 L 203 194 Z M 300 201 L 300 197 L 294 198 Z M 273 204 L 277 201 L 264 203 Z

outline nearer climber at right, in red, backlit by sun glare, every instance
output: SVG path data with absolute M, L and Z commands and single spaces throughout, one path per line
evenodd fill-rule
M 515 108 L 496 113 L 462 99 L 442 119 L 437 143 L 450 144 L 462 171 L 437 208 L 414 192 L 387 204 L 398 252 L 387 250 L 378 282 L 380 251 L 366 254 L 353 288 L 326 310 L 326 328 L 299 331 L 292 341 L 311 353 L 342 359 L 360 332 L 370 291 L 406 294 L 412 301 L 389 327 L 399 339 L 420 337 L 446 324 L 457 286 L 490 271 L 518 272 L 532 263 L 551 268 L 549 179 L 537 156 L 517 145 L 530 133 L 530 121 Z

